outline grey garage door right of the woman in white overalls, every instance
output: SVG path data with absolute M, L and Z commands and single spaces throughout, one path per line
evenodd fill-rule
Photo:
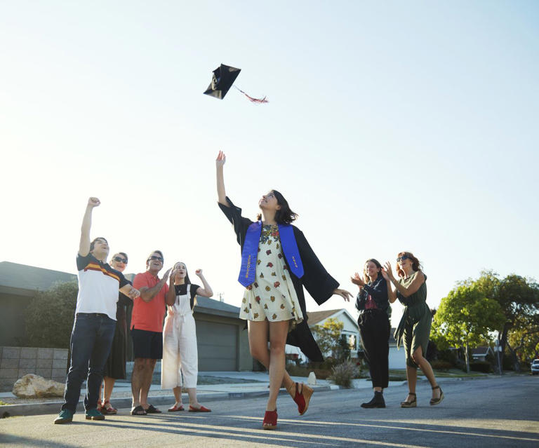
M 199 370 L 237 370 L 238 327 L 197 320 Z

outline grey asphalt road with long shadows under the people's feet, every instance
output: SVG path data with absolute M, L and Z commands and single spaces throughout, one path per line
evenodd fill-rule
M 430 387 L 418 386 L 418 407 L 401 409 L 406 386 L 385 391 L 386 409 L 362 409 L 368 390 L 313 395 L 298 416 L 279 396 L 279 428 L 262 430 L 265 398 L 204 402 L 211 414 L 164 412 L 105 421 L 78 413 L 68 425 L 53 415 L 0 420 L 2 447 L 539 447 L 539 376 L 440 382 L 446 399 L 429 405 Z

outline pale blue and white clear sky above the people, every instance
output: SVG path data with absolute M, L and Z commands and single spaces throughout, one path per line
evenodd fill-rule
M 281 191 L 354 295 L 402 250 L 431 308 L 482 269 L 539 277 L 537 2 L 0 0 L 0 50 L 0 260 L 75 273 L 97 196 L 126 272 L 159 249 L 239 306 L 222 150 L 244 216 Z M 221 63 L 269 103 L 203 95 Z

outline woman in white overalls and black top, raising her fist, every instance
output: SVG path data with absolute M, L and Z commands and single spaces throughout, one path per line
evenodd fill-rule
M 211 412 L 197 400 L 199 360 L 193 308 L 196 295 L 211 297 L 213 291 L 202 275 L 202 269 L 197 269 L 195 273 L 204 287 L 191 285 L 185 263 L 176 263 L 166 295 L 168 311 L 163 328 L 161 389 L 174 391 L 176 402 L 168 409 L 169 412 L 183 411 L 182 386 L 189 395 L 189 412 Z

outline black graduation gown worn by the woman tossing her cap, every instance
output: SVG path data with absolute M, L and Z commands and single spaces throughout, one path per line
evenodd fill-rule
M 237 236 L 237 241 L 241 246 L 241 250 L 244 248 L 245 236 L 247 228 L 253 221 L 251 219 L 241 216 L 241 208 L 236 207 L 232 201 L 227 197 L 227 202 L 230 207 L 219 203 L 219 207 L 223 213 L 225 213 L 229 222 L 234 226 L 234 232 Z M 312 336 L 309 325 L 307 325 L 307 310 L 305 309 L 305 294 L 303 293 L 303 286 L 307 289 L 311 297 L 317 302 L 317 304 L 323 304 L 327 299 L 333 295 L 333 290 L 339 286 L 339 283 L 335 278 L 331 277 L 324 266 L 322 266 L 317 255 L 312 250 L 307 239 L 296 226 L 292 226 L 294 230 L 295 242 L 298 244 L 298 250 L 300 252 L 301 261 L 303 263 L 303 276 L 302 278 L 296 277 L 290 270 L 290 264 L 284 255 L 286 266 L 288 267 L 288 273 L 291 274 L 292 283 L 294 285 L 295 294 L 298 295 L 298 301 L 300 302 L 300 308 L 303 313 L 303 320 L 300 324 L 296 325 L 294 330 L 288 332 L 286 338 L 286 344 L 299 347 L 300 350 L 312 361 L 323 361 L 324 357 L 317 345 L 317 342 Z

